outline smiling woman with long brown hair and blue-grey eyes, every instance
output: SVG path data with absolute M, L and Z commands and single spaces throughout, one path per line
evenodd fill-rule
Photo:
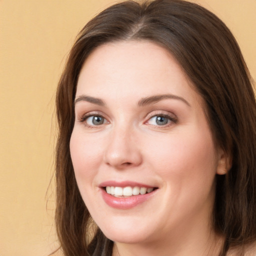
M 252 79 L 214 14 L 105 9 L 70 51 L 56 108 L 64 255 L 255 254 Z

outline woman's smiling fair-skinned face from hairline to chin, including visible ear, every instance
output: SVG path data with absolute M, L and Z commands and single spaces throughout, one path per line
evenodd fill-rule
M 152 242 L 209 227 L 224 156 L 204 109 L 177 61 L 152 42 L 108 43 L 86 59 L 70 153 L 108 238 Z

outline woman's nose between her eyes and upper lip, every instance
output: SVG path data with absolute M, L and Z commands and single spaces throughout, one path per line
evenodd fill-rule
M 116 169 L 138 166 L 142 162 L 138 140 L 130 128 L 116 128 L 106 145 L 104 161 Z

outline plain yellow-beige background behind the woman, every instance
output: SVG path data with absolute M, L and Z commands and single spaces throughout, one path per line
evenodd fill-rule
M 54 182 L 47 191 L 56 84 L 79 29 L 113 2 L 0 0 L 0 256 L 45 256 L 56 247 Z M 256 0 L 196 2 L 232 30 L 255 79 Z

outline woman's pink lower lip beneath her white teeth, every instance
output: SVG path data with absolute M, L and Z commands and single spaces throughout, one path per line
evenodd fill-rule
M 113 208 L 118 209 L 130 209 L 132 207 L 135 207 L 136 205 L 148 200 L 155 193 L 156 190 L 157 189 L 153 190 L 150 193 L 132 195 L 129 197 L 115 197 L 111 194 L 108 194 L 104 189 L 101 189 L 102 197 L 105 203 Z

